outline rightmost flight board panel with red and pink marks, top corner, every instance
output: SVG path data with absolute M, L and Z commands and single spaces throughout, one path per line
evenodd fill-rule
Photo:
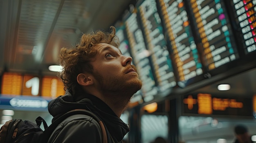
M 245 54 L 256 51 L 256 0 L 233 0 L 237 25 L 243 33 Z

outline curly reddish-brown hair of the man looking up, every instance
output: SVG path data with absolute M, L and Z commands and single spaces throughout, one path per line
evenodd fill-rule
M 75 47 L 61 48 L 59 64 L 63 69 L 57 76 L 63 81 L 64 90 L 69 90 L 72 95 L 75 94 L 75 91 L 81 90 L 81 86 L 76 81 L 77 75 L 84 72 L 93 73 L 90 61 L 97 54 L 95 45 L 106 43 L 117 48 L 120 46 L 119 38 L 115 33 L 115 27 L 110 26 L 110 33 L 98 30 L 83 34 L 80 42 Z

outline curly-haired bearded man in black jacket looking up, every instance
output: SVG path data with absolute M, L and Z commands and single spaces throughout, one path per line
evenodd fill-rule
M 110 33 L 96 31 L 84 34 L 75 48 L 62 48 L 58 74 L 66 94 L 49 103 L 53 121 L 73 109 L 86 109 L 106 125 L 112 142 L 121 143 L 128 126 L 121 113 L 130 98 L 141 88 L 141 80 L 132 58 L 121 54 L 115 27 Z M 66 119 L 67 120 L 67 119 Z M 48 143 L 101 143 L 101 132 L 88 120 L 63 121 Z

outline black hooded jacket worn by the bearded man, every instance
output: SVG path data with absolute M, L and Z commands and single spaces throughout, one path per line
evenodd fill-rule
M 86 109 L 96 114 L 105 124 L 115 143 L 121 143 L 130 131 L 126 123 L 117 117 L 106 103 L 93 95 L 86 95 L 86 98 L 74 101 L 72 95 L 66 92 L 66 95 L 50 101 L 48 105 L 49 113 L 54 117 L 52 121 L 73 109 Z M 98 124 L 91 119 L 71 117 L 58 125 L 48 143 L 101 143 L 100 134 Z

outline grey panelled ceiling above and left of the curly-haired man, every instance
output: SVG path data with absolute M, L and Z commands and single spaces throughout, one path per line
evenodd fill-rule
M 0 0 L 0 73 L 56 75 L 60 48 L 106 30 L 131 0 Z

